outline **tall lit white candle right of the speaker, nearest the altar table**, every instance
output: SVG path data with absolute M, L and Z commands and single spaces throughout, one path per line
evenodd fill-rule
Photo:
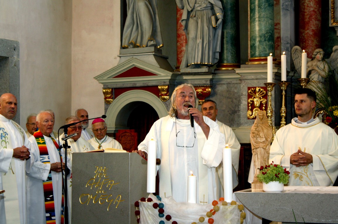
M 233 200 L 232 159 L 231 148 L 229 148 L 228 145 L 223 148 L 223 179 L 224 200 L 231 202 Z

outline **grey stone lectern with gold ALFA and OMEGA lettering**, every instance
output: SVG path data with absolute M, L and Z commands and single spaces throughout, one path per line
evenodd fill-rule
M 73 153 L 73 223 L 137 223 L 134 203 L 147 196 L 147 161 L 138 153 Z

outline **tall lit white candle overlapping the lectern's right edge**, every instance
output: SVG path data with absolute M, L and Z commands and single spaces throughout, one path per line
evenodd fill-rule
M 156 141 L 148 141 L 147 192 L 155 193 L 156 185 Z

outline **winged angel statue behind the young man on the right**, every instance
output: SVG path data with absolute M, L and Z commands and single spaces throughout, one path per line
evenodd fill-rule
M 295 69 L 298 74 L 301 74 L 301 54 L 303 51 L 299 46 L 292 48 L 292 59 Z M 338 66 L 338 46 L 334 46 L 333 53 L 328 59 L 324 59 L 324 51 L 320 48 L 316 49 L 312 54 L 312 59 L 307 58 L 306 74 L 309 75 L 310 82 L 307 88 L 312 89 L 318 95 L 326 95 L 324 86 L 325 78 L 329 74 L 329 67 L 331 70 L 337 69 Z M 319 102 L 317 101 L 317 104 Z

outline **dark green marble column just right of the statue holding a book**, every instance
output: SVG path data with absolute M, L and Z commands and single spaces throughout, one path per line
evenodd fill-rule
M 224 11 L 221 52 L 215 70 L 233 70 L 240 67 L 239 4 L 237 0 L 221 0 Z

